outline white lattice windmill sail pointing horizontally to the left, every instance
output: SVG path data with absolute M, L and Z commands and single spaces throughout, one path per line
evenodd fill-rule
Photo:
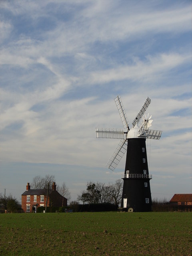
M 96 138 L 124 139 L 123 129 L 96 128 Z

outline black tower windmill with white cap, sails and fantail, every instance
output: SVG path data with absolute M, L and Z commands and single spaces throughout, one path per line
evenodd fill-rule
M 152 206 L 150 191 L 152 175 L 148 171 L 146 138 L 159 140 L 162 131 L 149 129 L 152 126 L 152 116 L 149 114 L 144 116 L 151 103 L 150 98 L 146 98 L 141 110 L 132 122 L 131 129 L 120 96 L 118 95 L 114 100 L 126 131 L 116 128 L 96 128 L 96 138 L 120 139 L 106 164 L 106 167 L 112 171 L 115 170 L 127 151 L 125 172 L 122 175 L 124 182 L 121 208 L 125 208 L 128 212 L 148 212 Z M 143 116 L 144 118 L 142 118 Z

